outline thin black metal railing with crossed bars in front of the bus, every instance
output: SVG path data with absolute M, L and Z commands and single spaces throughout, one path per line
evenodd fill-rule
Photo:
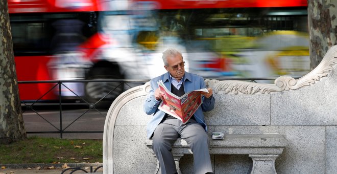
M 244 80 L 244 81 L 250 81 L 250 82 L 257 82 L 258 80 L 275 80 L 275 78 L 208 78 L 208 79 L 217 79 L 217 80 Z M 21 108 L 23 117 L 25 117 L 26 112 L 32 112 L 35 113 L 38 117 L 43 119 L 46 123 L 48 123 L 50 126 L 55 128 L 55 131 L 34 131 L 34 132 L 27 132 L 27 134 L 60 134 L 60 138 L 63 138 L 63 134 L 74 134 L 74 133 L 80 133 L 80 134 L 90 134 L 90 133 L 103 133 L 103 127 L 102 130 L 99 131 L 93 131 L 93 130 L 77 130 L 77 131 L 69 131 L 67 130 L 71 125 L 73 125 L 77 120 L 79 120 L 81 117 L 83 117 L 85 114 L 87 114 L 89 111 L 95 111 L 97 114 L 106 117 L 105 114 L 102 113 L 102 111 L 98 110 L 97 105 L 100 103 L 103 103 L 104 100 L 117 88 L 123 87 L 123 92 L 132 88 L 133 86 L 143 84 L 149 80 L 125 80 L 125 79 L 105 79 L 105 80 L 46 80 L 46 81 L 18 81 L 19 84 L 37 84 L 37 83 L 49 83 L 52 84 L 51 88 L 46 91 L 44 94 L 41 94 L 41 96 L 36 100 L 29 100 L 29 101 L 22 101 L 21 100 Z M 84 96 L 80 96 L 77 94 L 76 91 L 71 90 L 68 88 L 67 84 L 69 83 L 109 83 L 109 82 L 117 82 L 118 85 L 115 86 L 115 88 L 110 89 L 107 94 L 105 94 L 103 97 L 98 99 L 95 102 L 90 102 L 85 98 Z M 62 88 L 63 90 L 66 89 L 68 92 L 71 92 L 74 94 L 73 98 L 75 97 L 76 102 L 68 102 L 67 100 L 64 101 L 64 98 L 61 97 L 62 95 Z M 43 98 L 52 92 L 58 92 L 58 99 L 53 101 L 45 101 Z M 73 99 L 74 100 L 74 99 Z M 73 101 L 71 100 L 71 101 Z M 109 104 L 112 103 L 113 100 L 110 100 Z M 39 106 L 56 106 L 57 110 L 59 110 L 59 127 L 53 124 L 51 121 L 47 120 L 45 117 L 43 117 L 35 108 Z M 65 106 L 81 106 L 81 107 L 87 107 L 85 108 L 85 111 L 80 114 L 79 116 L 76 116 L 76 118 L 71 121 L 67 126 L 63 126 L 63 107 Z M 107 110 L 107 108 L 106 108 Z

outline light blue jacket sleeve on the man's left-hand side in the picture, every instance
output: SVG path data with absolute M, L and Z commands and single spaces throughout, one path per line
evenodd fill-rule
M 151 90 L 143 103 L 143 110 L 147 115 L 155 113 L 158 109 L 160 101 L 156 100 L 154 97 L 154 91 L 158 88 L 158 84 L 155 80 L 150 81 Z

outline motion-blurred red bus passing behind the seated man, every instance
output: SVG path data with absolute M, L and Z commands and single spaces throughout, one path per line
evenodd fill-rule
M 237 67 L 247 62 L 240 54 L 253 49 L 249 41 L 272 31 L 307 31 L 306 0 L 8 0 L 8 5 L 19 81 L 150 79 L 163 72 L 158 63 L 167 47 L 182 50 L 186 71 L 205 78 L 246 77 L 254 70 Z M 20 99 L 55 100 L 58 88 L 47 93 L 55 84 L 21 83 Z M 70 89 L 93 100 L 118 87 L 66 86 L 63 97 L 74 97 Z M 122 91 L 118 87 L 108 98 Z

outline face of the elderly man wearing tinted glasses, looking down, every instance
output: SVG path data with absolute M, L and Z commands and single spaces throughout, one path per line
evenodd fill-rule
M 180 55 L 168 57 L 167 63 L 168 66 L 164 66 L 166 71 L 170 72 L 171 76 L 179 81 L 185 74 L 185 62 L 182 57 Z

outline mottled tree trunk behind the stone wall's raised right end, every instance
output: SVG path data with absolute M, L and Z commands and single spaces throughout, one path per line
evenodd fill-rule
M 325 53 L 336 45 L 337 1 L 308 0 L 310 68 L 315 69 Z

